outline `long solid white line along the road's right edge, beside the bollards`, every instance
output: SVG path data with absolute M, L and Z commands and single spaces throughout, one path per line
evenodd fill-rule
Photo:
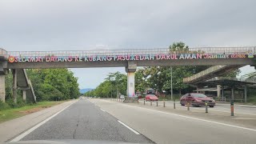
M 120 105 L 122 105 L 122 104 L 120 104 Z M 129 105 L 126 105 L 126 106 L 129 106 Z M 151 110 L 151 109 L 147 109 L 147 108 L 139 107 L 139 106 L 131 106 L 131 107 Z M 194 120 L 198 120 L 198 121 L 202 121 L 202 122 L 211 122 L 211 123 L 222 125 L 222 126 L 230 126 L 230 127 L 234 127 L 234 128 L 238 128 L 238 129 L 251 130 L 251 131 L 255 131 L 256 132 L 255 129 L 250 129 L 250 128 L 246 128 L 246 127 L 242 127 L 242 126 L 234 126 L 234 125 L 230 125 L 230 124 L 226 124 L 226 123 L 222 123 L 222 122 L 214 122 L 214 121 L 210 121 L 210 120 L 206 120 L 206 119 L 193 118 L 193 117 L 188 117 L 188 116 L 180 115 L 180 114 L 171 114 L 171 113 L 166 113 L 166 112 L 158 111 L 158 110 L 151 110 L 151 111 L 162 113 L 162 114 L 170 114 L 170 115 L 174 115 L 174 116 L 178 116 L 178 117 L 182 117 L 182 118 L 190 118 L 190 119 L 194 119 Z

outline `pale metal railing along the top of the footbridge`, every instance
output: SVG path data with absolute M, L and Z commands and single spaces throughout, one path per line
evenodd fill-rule
M 197 47 L 189 50 L 175 50 L 169 48 L 155 49 L 125 49 L 125 50 L 54 50 L 54 51 L 6 51 L 0 49 L 0 55 L 6 58 L 11 56 L 113 56 L 113 55 L 131 55 L 131 54 L 181 54 L 181 53 L 207 53 L 207 54 L 255 54 L 255 46 L 244 47 Z

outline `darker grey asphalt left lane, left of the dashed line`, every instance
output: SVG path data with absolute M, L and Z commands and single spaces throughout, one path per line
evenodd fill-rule
M 142 134 L 135 134 L 122 122 L 88 100 L 73 105 L 27 134 L 22 141 L 52 139 L 86 139 L 114 142 L 153 143 Z

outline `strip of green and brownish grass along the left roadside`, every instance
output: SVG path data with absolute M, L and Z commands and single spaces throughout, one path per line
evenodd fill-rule
M 30 105 L 22 106 L 22 107 L 18 107 L 18 108 L 9 108 L 9 109 L 5 109 L 5 110 L 0 110 L 0 123 L 9 121 L 14 118 L 22 117 L 26 114 L 31 114 L 31 113 L 46 109 L 51 106 L 58 105 L 62 102 L 66 102 L 66 101 L 37 102 L 36 104 L 30 104 Z

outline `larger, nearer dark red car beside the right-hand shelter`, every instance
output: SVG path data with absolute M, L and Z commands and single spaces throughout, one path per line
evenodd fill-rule
M 210 107 L 215 106 L 215 101 L 213 98 L 209 98 L 205 94 L 199 93 L 185 94 L 182 96 L 182 98 L 180 98 L 180 103 L 182 106 L 185 106 L 187 102 L 190 102 L 192 106 L 206 106 L 206 102 Z

